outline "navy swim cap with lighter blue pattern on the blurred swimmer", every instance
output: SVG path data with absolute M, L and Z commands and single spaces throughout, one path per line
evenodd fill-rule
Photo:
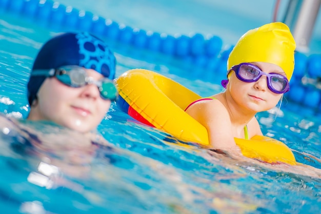
M 77 65 L 96 70 L 110 80 L 115 77 L 116 59 L 105 42 L 87 33 L 63 33 L 43 45 L 33 63 L 32 70 L 52 69 Z M 32 105 L 46 76 L 30 76 L 28 101 Z

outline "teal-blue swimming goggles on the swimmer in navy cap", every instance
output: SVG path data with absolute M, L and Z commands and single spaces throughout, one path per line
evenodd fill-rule
M 103 78 L 96 81 L 91 76 L 87 75 L 85 68 L 76 65 L 62 66 L 56 69 L 35 69 L 31 72 L 31 75 L 46 77 L 55 76 L 58 81 L 74 88 L 94 84 L 98 87 L 101 97 L 104 100 L 115 101 L 118 96 L 117 89 L 111 80 Z

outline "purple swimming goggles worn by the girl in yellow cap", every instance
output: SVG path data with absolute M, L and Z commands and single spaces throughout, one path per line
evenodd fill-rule
M 278 73 L 265 73 L 251 63 L 241 63 L 233 66 L 230 70 L 235 71 L 238 80 L 246 83 L 256 82 L 262 75 L 266 75 L 268 88 L 274 93 L 285 93 L 290 90 L 287 77 Z M 223 80 L 221 84 L 226 88 L 228 82 L 228 80 Z

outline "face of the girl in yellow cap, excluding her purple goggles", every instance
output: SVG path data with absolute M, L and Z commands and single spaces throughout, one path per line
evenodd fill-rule
M 266 73 L 285 73 L 279 66 L 271 63 L 252 63 Z M 278 103 L 282 94 L 272 92 L 267 85 L 267 77 L 262 75 L 256 82 L 246 83 L 237 79 L 233 72 L 230 78 L 229 91 L 233 99 L 245 108 L 252 111 L 266 111 Z

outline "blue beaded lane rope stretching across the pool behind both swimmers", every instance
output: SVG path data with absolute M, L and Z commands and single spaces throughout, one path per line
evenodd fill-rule
M 1 10 L 22 15 L 55 30 L 88 31 L 135 48 L 160 52 L 192 62 L 195 66 L 213 71 L 208 75 L 212 76 L 209 80 L 215 79 L 217 74 L 221 76 L 226 73 L 227 57 L 232 50 L 232 47 L 223 50 L 223 41 L 216 35 L 205 38 L 200 33 L 191 36 L 173 36 L 146 31 L 119 25 L 91 12 L 78 10 L 51 0 L 0 0 Z M 285 95 L 294 102 L 321 110 L 321 90 L 315 86 L 303 85 L 301 81 L 304 76 L 320 79 L 321 55 L 314 54 L 307 57 L 297 52 L 294 69 L 290 83 L 291 89 Z

